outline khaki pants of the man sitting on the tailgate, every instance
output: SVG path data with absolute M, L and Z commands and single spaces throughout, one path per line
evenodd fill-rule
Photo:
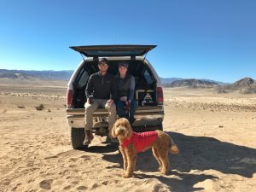
M 85 131 L 90 131 L 91 127 L 93 125 L 93 113 L 96 111 L 97 108 L 105 108 L 106 103 L 108 102 L 107 99 L 94 99 L 94 102 L 89 104 L 88 102 L 85 102 L 84 104 L 84 121 Z M 113 103 L 108 109 L 108 130 L 110 130 L 113 127 L 113 124 L 116 119 L 116 108 L 115 104 Z

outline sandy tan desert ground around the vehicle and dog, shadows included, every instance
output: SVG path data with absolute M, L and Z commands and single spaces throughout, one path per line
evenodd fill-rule
M 181 153 L 169 155 L 167 176 L 150 150 L 138 154 L 123 178 L 105 137 L 71 147 L 64 85 L 0 88 L 0 191 L 255 191 L 255 95 L 165 89 L 164 129 Z

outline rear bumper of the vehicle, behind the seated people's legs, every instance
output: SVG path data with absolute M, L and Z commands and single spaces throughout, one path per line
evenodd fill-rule
M 140 107 L 134 115 L 136 119 L 133 126 L 160 125 L 164 120 L 162 106 Z M 117 116 L 118 117 L 118 116 Z M 84 108 L 67 109 L 67 123 L 73 128 L 84 127 Z M 108 111 L 103 108 L 96 109 L 93 115 L 93 127 L 108 127 Z

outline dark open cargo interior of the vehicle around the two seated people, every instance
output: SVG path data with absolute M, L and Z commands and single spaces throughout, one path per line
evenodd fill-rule
M 137 106 L 157 106 L 156 79 L 145 65 L 144 61 L 130 60 L 128 73 L 135 78 L 135 98 Z M 115 76 L 118 73 L 119 61 L 109 61 L 108 73 Z M 73 108 L 84 108 L 85 88 L 91 74 L 98 72 L 97 61 L 84 61 L 73 83 Z

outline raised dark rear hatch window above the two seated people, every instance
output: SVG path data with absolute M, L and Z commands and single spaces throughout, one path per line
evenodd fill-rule
M 141 56 L 154 49 L 156 45 L 131 45 L 131 44 L 115 44 L 115 45 L 90 45 L 90 46 L 72 46 L 71 49 L 78 51 L 87 57 L 102 56 Z

